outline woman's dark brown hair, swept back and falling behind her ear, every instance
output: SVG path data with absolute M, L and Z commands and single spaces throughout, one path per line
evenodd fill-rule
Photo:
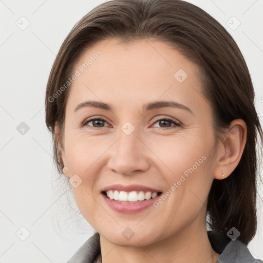
M 123 43 L 154 38 L 167 42 L 195 62 L 202 73 L 203 95 L 213 108 L 217 143 L 231 121 L 240 118 L 246 122 L 247 143 L 240 162 L 228 178 L 213 181 L 207 212 L 213 230 L 227 233 L 235 227 L 241 233 L 238 239 L 248 244 L 255 235 L 257 222 L 256 182 L 260 163 L 256 154 L 257 132 L 263 139 L 254 106 L 254 89 L 246 62 L 232 36 L 193 4 L 180 0 L 112 0 L 91 10 L 72 28 L 54 61 L 46 89 L 46 124 L 53 136 L 59 173 L 63 168 L 59 145 L 63 147 L 69 88 L 55 99 L 53 95 L 71 76 L 80 55 L 111 37 Z M 61 128 L 60 138 L 54 132 L 56 121 Z

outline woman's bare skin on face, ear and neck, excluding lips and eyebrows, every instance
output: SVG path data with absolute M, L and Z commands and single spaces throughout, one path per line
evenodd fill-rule
M 216 147 L 212 107 L 201 93 L 198 67 L 166 43 L 103 41 L 85 51 L 73 72 L 98 49 L 99 58 L 70 86 L 61 153 L 65 175 L 82 179 L 72 191 L 81 213 L 100 233 L 103 263 L 216 262 L 219 254 L 206 233 L 206 202 L 212 181 L 227 178 L 238 165 L 246 123 L 234 120 Z M 188 75 L 182 83 L 174 77 L 178 69 Z M 87 100 L 110 104 L 113 110 L 74 112 Z M 143 110 L 146 103 L 160 100 L 179 102 L 193 114 L 172 107 Z M 81 127 L 90 117 L 105 122 Z M 158 121 L 165 117 L 181 126 Z M 127 121 L 135 128 L 130 135 L 121 129 Z M 101 197 L 103 187 L 114 183 L 143 184 L 164 194 L 203 155 L 206 160 L 158 208 L 123 214 Z M 134 232 L 129 240 L 122 235 L 127 227 Z

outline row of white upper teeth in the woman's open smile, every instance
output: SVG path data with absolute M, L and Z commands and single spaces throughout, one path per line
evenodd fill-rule
M 107 197 L 109 199 L 114 199 L 116 201 L 128 201 L 128 202 L 137 202 L 137 201 L 143 201 L 143 200 L 149 200 L 151 198 L 155 198 L 158 193 L 157 192 L 143 192 L 140 191 L 137 193 L 136 191 L 132 192 L 125 192 L 125 191 L 117 191 L 117 190 L 109 190 L 106 191 Z

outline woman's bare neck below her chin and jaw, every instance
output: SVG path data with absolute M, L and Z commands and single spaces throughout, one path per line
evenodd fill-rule
M 211 247 L 206 224 L 198 221 L 150 245 L 140 246 L 143 240 L 136 243 L 136 247 L 119 246 L 100 235 L 102 263 L 215 263 L 219 257 Z

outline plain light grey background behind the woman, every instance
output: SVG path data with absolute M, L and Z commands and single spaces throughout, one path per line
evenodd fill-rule
M 72 200 L 72 194 L 63 187 L 65 179 L 51 183 L 58 175 L 45 126 L 44 97 L 64 38 L 80 18 L 104 2 L 0 0 L 0 263 L 63 263 L 94 232 L 83 217 L 72 222 L 78 209 L 68 209 L 67 197 Z M 250 69 L 256 107 L 262 113 L 263 1 L 189 2 L 210 13 L 233 35 Z M 21 122 L 27 124 L 28 131 Z M 259 194 L 262 198 L 261 184 Z M 258 231 L 249 245 L 252 254 L 261 259 L 262 205 L 259 200 Z

